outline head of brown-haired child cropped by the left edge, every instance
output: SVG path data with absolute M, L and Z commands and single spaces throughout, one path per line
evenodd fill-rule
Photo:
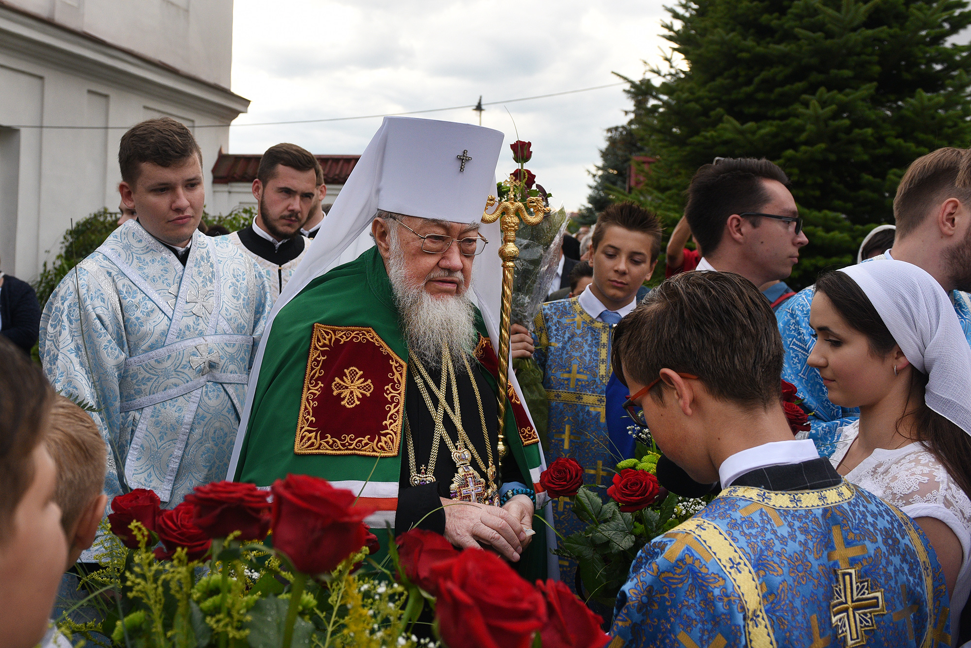
M 53 393 L 40 367 L 0 336 L 0 642 L 30 648 L 47 632 L 67 558 L 42 442 Z

